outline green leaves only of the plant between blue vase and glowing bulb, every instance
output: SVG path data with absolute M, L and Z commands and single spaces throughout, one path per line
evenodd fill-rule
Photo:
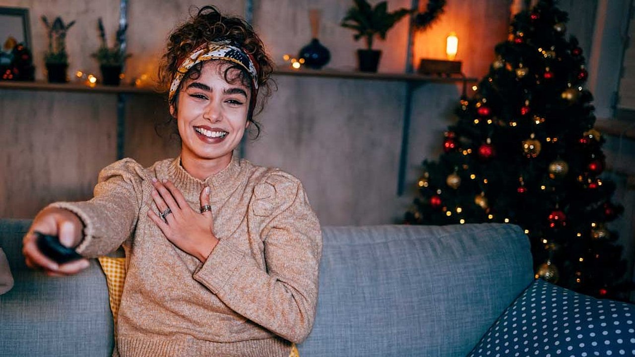
M 413 12 L 402 8 L 389 13 L 386 1 L 378 3 L 374 8 L 366 0 L 354 0 L 354 3 L 355 6 L 349 8 L 340 25 L 357 32 L 353 36 L 355 41 L 365 37 L 368 49 L 373 48 L 375 36 L 386 39 L 386 32 L 403 16 Z

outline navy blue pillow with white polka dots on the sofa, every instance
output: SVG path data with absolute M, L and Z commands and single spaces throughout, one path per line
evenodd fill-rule
M 535 280 L 468 357 L 635 356 L 635 305 Z

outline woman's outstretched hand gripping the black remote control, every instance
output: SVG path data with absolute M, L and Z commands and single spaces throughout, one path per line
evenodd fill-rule
M 32 269 L 44 269 L 50 276 L 74 275 L 88 268 L 88 259 L 78 259 L 65 264 L 57 264 L 44 256 L 37 249 L 37 235 L 35 232 L 59 237 L 65 247 L 76 247 L 82 240 L 84 224 L 76 214 L 67 209 L 49 207 L 40 211 L 29 231 L 22 240 L 22 253 L 27 266 Z

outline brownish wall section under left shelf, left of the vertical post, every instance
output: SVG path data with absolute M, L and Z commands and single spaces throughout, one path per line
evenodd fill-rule
M 90 198 L 116 159 L 111 94 L 0 90 L 0 217 Z

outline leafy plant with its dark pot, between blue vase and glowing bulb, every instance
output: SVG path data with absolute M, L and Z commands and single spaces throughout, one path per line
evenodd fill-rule
M 359 70 L 377 72 L 382 51 L 373 49 L 373 38 L 379 36 L 380 39 L 386 39 L 386 32 L 403 16 L 413 11 L 402 8 L 389 13 L 386 1 L 378 3 L 375 8 L 366 0 L 354 0 L 354 3 L 355 6 L 349 8 L 341 25 L 357 32 L 353 36 L 355 41 L 366 38 L 366 49 L 358 49 Z

